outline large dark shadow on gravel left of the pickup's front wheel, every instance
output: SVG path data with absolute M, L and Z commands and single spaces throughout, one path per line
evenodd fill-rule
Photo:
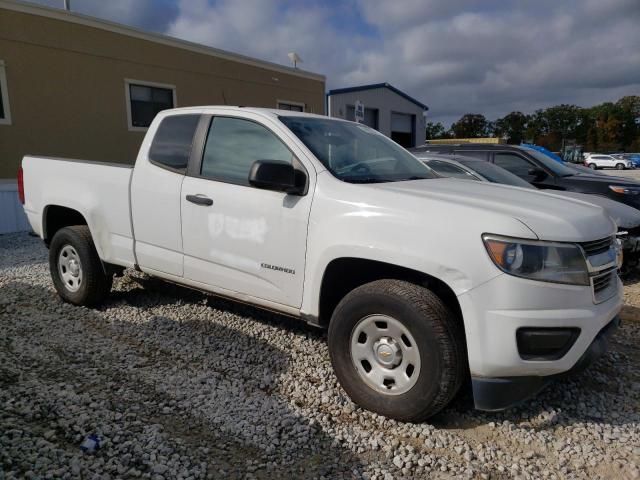
M 167 304 L 177 298 L 197 304 L 204 297 L 160 288 L 170 297 Z M 249 335 L 204 312 L 158 313 L 163 308 L 153 303 L 155 295 L 130 289 L 95 311 L 65 304 L 46 288 L 3 282 L 0 404 L 28 395 L 38 406 L 37 415 L 19 408 L 5 412 L 28 432 L 19 444 L 24 458 L 43 430 L 53 428 L 56 458 L 64 464 L 79 457 L 85 475 L 98 473 L 92 470 L 96 456 L 105 462 L 127 458 L 127 469 L 151 473 L 152 453 L 179 458 L 202 478 L 362 474 L 356 455 L 279 394 L 278 377 L 291 362 L 285 350 L 265 341 L 264 332 Z M 228 303 L 216 308 L 231 311 Z M 135 314 L 139 305 L 150 304 L 151 314 Z M 247 308 L 235 312 L 247 315 Z M 91 433 L 103 439 L 103 448 L 82 456 L 80 442 Z M 20 476 L 34 465 L 16 462 L 12 468 Z

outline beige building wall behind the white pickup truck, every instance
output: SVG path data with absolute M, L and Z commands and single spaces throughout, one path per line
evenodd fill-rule
M 174 85 L 178 107 L 275 108 L 282 100 L 324 113 L 321 75 L 187 42 L 178 48 L 167 37 L 150 41 L 143 32 L 86 25 L 92 23 L 86 17 L 63 11 L 16 11 L 15 5 L 0 0 L 0 61 L 11 111 L 11 124 L 0 124 L 0 179 L 15 178 L 27 153 L 134 162 L 144 132 L 128 128 L 125 79 Z

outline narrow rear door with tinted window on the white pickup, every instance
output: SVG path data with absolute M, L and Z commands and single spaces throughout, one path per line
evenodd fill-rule
M 195 114 L 167 116 L 140 147 L 131 179 L 131 218 L 143 271 L 183 274 L 180 190 L 199 120 Z

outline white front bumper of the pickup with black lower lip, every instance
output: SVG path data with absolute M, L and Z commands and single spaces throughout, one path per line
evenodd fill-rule
M 596 303 L 592 287 L 503 274 L 458 296 L 477 408 L 518 403 L 550 379 L 579 368 L 585 355 L 593 356 L 602 344 L 596 339 L 622 307 L 622 282 L 615 275 L 610 289 L 610 296 Z M 526 355 L 518 345 L 519 331 L 553 329 L 578 332 L 557 356 Z

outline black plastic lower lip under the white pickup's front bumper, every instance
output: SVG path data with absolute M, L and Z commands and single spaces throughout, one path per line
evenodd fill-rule
M 616 316 L 598 332 L 576 364 L 566 372 L 547 376 L 498 378 L 472 376 L 475 407 L 486 411 L 503 410 L 534 396 L 555 379 L 581 372 L 607 351 L 609 338 L 619 325 L 620 318 Z

